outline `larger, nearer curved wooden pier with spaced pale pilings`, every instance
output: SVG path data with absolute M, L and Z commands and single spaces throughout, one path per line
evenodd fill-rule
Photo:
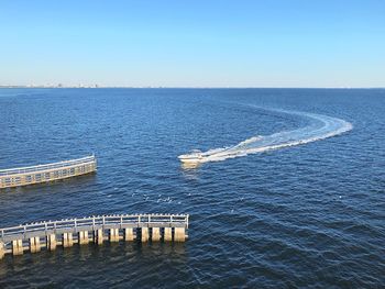
M 57 246 L 105 241 L 185 242 L 188 214 L 114 214 L 47 221 L 0 229 L 0 259 L 6 254 L 54 251 Z

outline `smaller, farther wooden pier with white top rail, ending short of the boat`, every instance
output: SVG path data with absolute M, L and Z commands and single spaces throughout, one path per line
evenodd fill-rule
M 47 165 L 1 169 L 0 189 L 65 179 L 96 170 L 97 160 L 94 155 Z

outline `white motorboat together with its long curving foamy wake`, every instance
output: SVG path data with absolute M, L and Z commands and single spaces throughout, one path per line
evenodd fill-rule
M 220 162 L 228 158 L 246 156 L 249 154 L 307 144 L 332 137 L 353 129 L 353 125 L 350 122 L 322 114 L 285 110 L 273 111 L 304 116 L 307 118 L 310 123 L 305 127 L 293 131 L 253 136 L 234 146 L 213 148 L 204 153 L 200 151 L 193 151 L 189 154 L 178 156 L 178 158 L 184 164 L 193 165 L 207 162 Z

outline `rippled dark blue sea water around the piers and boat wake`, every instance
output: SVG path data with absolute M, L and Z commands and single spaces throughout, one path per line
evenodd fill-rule
M 193 148 L 344 120 L 338 136 L 185 168 Z M 0 262 L 0 288 L 383 288 L 384 89 L 0 89 L 0 169 L 95 153 L 98 173 L 0 191 L 0 227 L 189 213 L 184 244 Z M 168 198 L 172 200 L 168 200 Z

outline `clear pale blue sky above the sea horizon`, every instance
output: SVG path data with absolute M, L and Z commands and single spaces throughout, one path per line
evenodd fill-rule
M 3 0 L 0 85 L 385 87 L 384 0 Z

